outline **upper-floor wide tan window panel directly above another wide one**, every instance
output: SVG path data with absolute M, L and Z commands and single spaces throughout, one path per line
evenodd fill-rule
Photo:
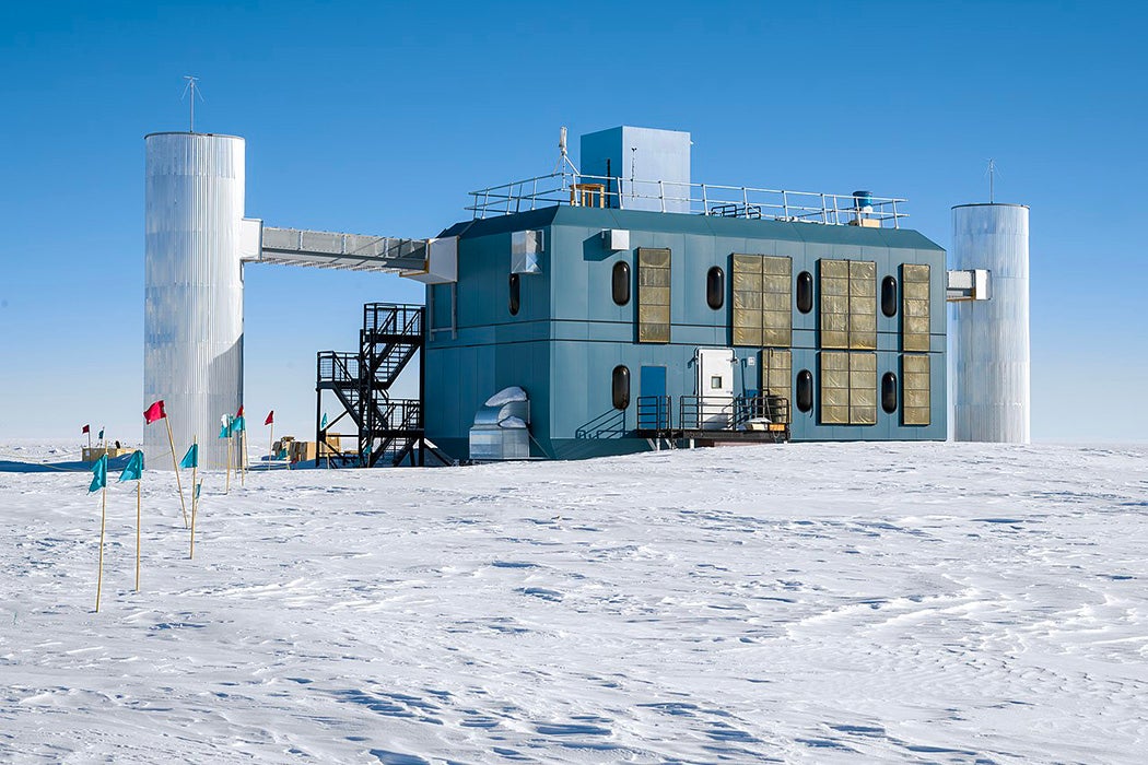
M 821 274 L 821 346 L 876 350 L 876 261 L 822 259 L 817 267 Z

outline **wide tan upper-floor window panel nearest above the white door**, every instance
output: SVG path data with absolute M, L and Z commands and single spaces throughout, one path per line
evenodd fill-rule
M 789 348 L 793 337 L 793 260 L 732 256 L 734 345 Z

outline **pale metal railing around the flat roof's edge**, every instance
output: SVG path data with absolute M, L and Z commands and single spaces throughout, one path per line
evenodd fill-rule
M 900 228 L 907 200 L 557 172 L 471 192 L 474 218 L 554 205 Z

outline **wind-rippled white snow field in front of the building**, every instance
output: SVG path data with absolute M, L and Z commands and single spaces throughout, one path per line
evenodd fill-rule
M 1146 446 L 212 474 L 194 561 L 148 471 L 99 614 L 90 477 L 0 473 L 0 760 L 1148 751 Z

